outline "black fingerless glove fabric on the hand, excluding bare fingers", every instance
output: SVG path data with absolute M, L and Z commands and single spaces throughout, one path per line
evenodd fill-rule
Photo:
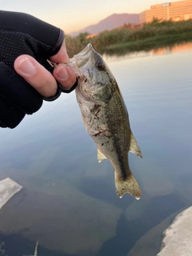
M 0 10 L 0 126 L 14 128 L 42 106 L 42 96 L 14 71 L 15 58 L 29 54 L 48 69 L 46 59 L 63 39 L 62 30 L 38 18 Z

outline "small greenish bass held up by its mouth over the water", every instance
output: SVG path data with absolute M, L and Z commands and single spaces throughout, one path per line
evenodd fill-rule
M 142 158 L 142 151 L 130 130 L 126 104 L 114 75 L 91 44 L 70 58 L 70 66 L 78 77 L 76 98 L 86 131 L 98 147 L 98 162 L 108 159 L 113 166 L 119 198 L 126 193 L 141 198 L 128 152 Z

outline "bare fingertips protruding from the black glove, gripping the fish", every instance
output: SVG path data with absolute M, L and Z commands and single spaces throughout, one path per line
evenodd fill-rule
M 68 63 L 70 59 L 66 53 L 65 40 L 58 54 L 50 57 L 55 63 Z M 58 65 L 54 68 L 53 75 L 30 55 L 20 55 L 14 61 L 14 69 L 42 96 L 49 98 L 58 90 L 57 81 L 63 90 L 70 90 L 76 82 L 76 76 L 70 66 Z

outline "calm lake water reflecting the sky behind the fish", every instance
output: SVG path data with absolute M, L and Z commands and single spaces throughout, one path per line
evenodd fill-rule
M 192 204 L 192 45 L 103 56 L 118 81 L 143 154 L 129 153 L 142 190 L 118 198 L 98 163 L 74 92 L 0 130 L 0 179 L 23 189 L 0 210 L 8 256 L 154 256 L 162 231 Z M 0 251 L 1 255 L 1 251 Z

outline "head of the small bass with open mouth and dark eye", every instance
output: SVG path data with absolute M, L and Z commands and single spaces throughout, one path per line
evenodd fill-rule
M 114 93 L 115 78 L 91 44 L 88 44 L 79 54 L 70 59 L 78 69 L 77 90 L 92 101 L 108 102 Z

